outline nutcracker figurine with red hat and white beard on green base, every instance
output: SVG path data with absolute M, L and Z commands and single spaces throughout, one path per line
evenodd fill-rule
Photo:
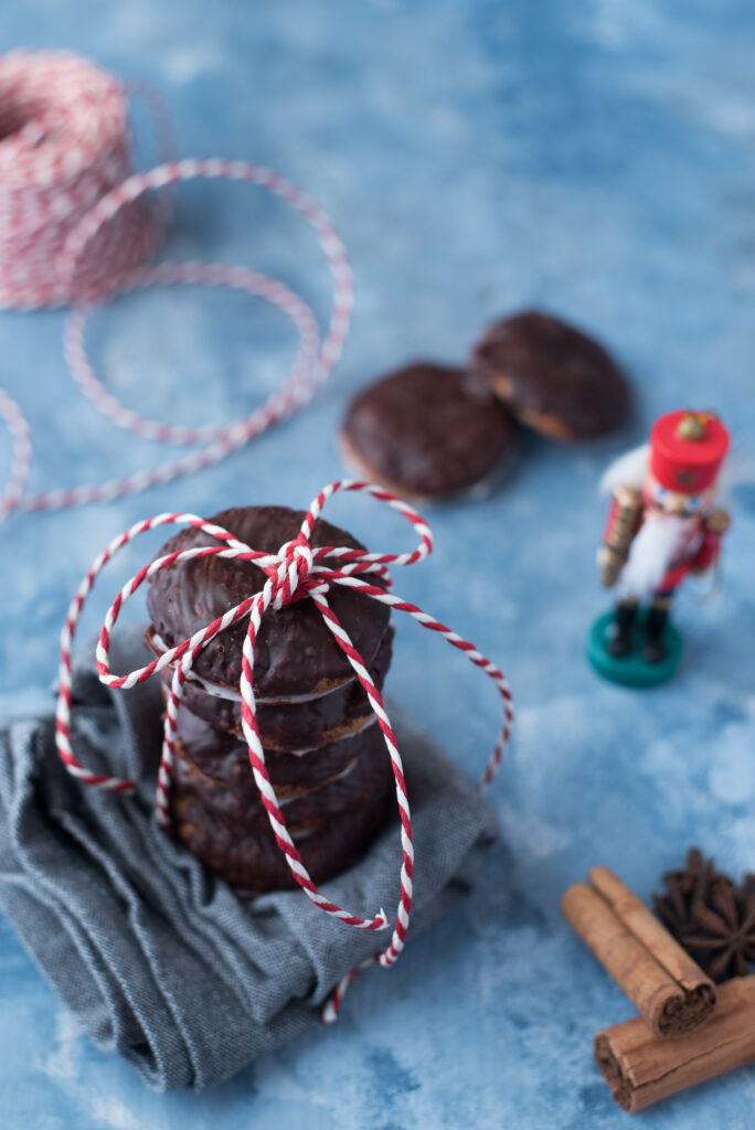
M 650 444 L 604 476 L 601 487 L 613 499 L 598 565 L 618 600 L 593 625 L 588 654 L 606 678 L 652 686 L 676 670 L 682 638 L 669 610 L 687 574 L 717 563 L 729 516 L 713 504 L 728 446 L 729 434 L 712 412 L 667 412 L 656 420 Z

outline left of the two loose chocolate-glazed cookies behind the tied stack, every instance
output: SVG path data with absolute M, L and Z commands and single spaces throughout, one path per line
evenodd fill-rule
M 376 381 L 350 405 L 344 455 L 411 498 L 484 489 L 511 462 L 517 428 L 485 381 L 429 362 Z

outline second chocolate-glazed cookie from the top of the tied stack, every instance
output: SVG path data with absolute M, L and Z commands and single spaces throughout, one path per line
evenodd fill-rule
M 385 672 L 391 661 L 393 629 L 388 628 L 378 654 L 370 667 L 370 675 L 382 688 Z M 170 687 L 172 671 L 162 672 L 164 687 Z M 241 737 L 241 703 L 232 698 L 219 698 L 202 690 L 196 683 L 186 681 L 183 690 L 180 725 L 188 715 L 186 707 L 197 721 L 206 725 L 200 732 L 193 722 L 193 733 L 188 740 L 211 748 L 223 741 L 226 734 Z M 365 692 L 356 678 L 342 687 L 337 687 L 316 698 L 305 702 L 268 705 L 258 699 L 257 721 L 262 745 L 268 750 L 313 749 L 355 733 L 373 718 L 372 707 Z M 212 729 L 214 728 L 214 729 Z

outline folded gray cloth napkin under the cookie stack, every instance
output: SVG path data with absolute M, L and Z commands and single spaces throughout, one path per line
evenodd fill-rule
M 113 670 L 144 657 L 140 632 L 113 641 Z M 73 694 L 80 760 L 136 777 L 137 796 L 69 776 L 51 718 L 1 730 L 0 911 L 98 1048 L 119 1051 L 156 1090 L 211 1086 L 318 1024 L 336 982 L 390 935 L 345 927 L 298 889 L 237 899 L 156 825 L 158 680 L 111 694 L 90 663 Z M 496 826 L 422 733 L 405 723 L 399 738 L 416 854 L 410 940 L 469 890 Z M 383 906 L 392 925 L 399 860 L 392 819 L 323 890 L 356 913 Z

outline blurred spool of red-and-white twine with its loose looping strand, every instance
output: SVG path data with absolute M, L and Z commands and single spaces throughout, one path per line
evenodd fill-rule
M 170 128 L 148 92 L 160 148 L 170 153 Z M 305 405 L 338 360 L 352 315 L 353 278 L 344 244 L 324 209 L 277 173 L 248 162 L 171 160 L 130 175 L 127 88 L 68 52 L 19 51 L 0 56 L 0 306 L 33 310 L 72 303 L 64 354 L 73 380 L 119 427 L 158 443 L 196 450 L 106 483 L 25 495 L 31 447 L 19 443 L 20 409 L 3 394 L 0 415 L 11 427 L 10 486 L 0 520 L 11 510 L 54 510 L 105 502 L 167 483 L 216 463 L 271 424 Z M 244 267 L 196 262 L 139 266 L 167 220 L 171 186 L 188 180 L 254 184 L 292 205 L 314 228 L 333 286 L 322 344 L 318 321 L 284 284 Z M 144 197 L 151 191 L 158 205 Z M 212 427 L 176 427 L 145 419 L 122 405 L 95 375 L 85 351 L 94 308 L 114 294 L 168 284 L 232 287 L 274 304 L 294 322 L 300 350 L 280 386 L 251 415 Z M 10 407 L 12 405 L 12 407 Z

